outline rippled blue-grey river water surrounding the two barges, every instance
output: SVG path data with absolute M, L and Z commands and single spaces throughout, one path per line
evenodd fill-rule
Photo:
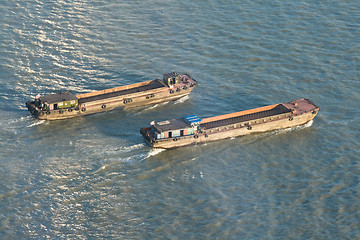
M 0 2 L 1 239 L 360 239 L 360 1 Z M 25 102 L 187 72 L 176 102 Z M 152 120 L 309 98 L 307 126 L 151 149 Z

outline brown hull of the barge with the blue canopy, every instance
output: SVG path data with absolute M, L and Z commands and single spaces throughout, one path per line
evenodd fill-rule
M 284 104 L 285 105 L 285 104 Z M 268 107 L 273 107 L 268 106 Z M 263 107 L 261 110 L 264 110 L 268 107 Z M 260 109 L 260 108 L 259 108 Z M 255 109 L 256 110 L 256 109 Z M 256 118 L 246 122 L 237 122 L 228 125 L 222 125 L 211 129 L 203 128 L 195 135 L 181 136 L 176 138 L 167 138 L 167 139 L 158 139 L 155 140 L 149 137 L 150 129 L 142 129 L 141 133 L 146 139 L 146 141 L 155 148 L 177 148 L 181 146 L 191 145 L 191 144 L 200 144 L 206 142 L 217 141 L 221 139 L 234 138 L 254 133 L 263 133 L 273 130 L 292 128 L 296 126 L 304 125 L 310 122 L 318 113 L 319 108 L 314 105 L 313 109 L 309 109 L 306 112 L 301 112 L 294 114 L 292 112 L 286 112 L 279 115 L 272 115 L 263 118 Z M 244 112 L 254 113 L 254 110 L 248 110 Z M 241 113 L 241 112 L 240 112 Z M 236 113 L 234 113 L 236 114 Z M 228 114 L 231 115 L 231 114 Z M 226 117 L 228 115 L 219 116 Z M 218 120 L 219 117 L 213 117 L 209 119 L 204 119 L 202 122 L 209 123 L 209 120 Z M 211 122 L 210 122 L 211 123 Z

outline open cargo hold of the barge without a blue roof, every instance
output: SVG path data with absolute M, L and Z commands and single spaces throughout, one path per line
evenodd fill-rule
M 120 91 L 103 93 L 103 94 L 99 94 L 99 95 L 93 95 L 93 96 L 89 96 L 89 97 L 79 98 L 79 104 L 92 102 L 92 101 L 98 101 L 98 100 L 107 99 L 107 98 L 118 97 L 118 96 L 127 95 L 127 94 L 131 94 L 131 93 L 136 93 L 136 92 L 148 91 L 148 90 L 162 88 L 162 87 L 166 87 L 166 85 L 161 80 L 156 79 L 144 86 L 139 86 L 139 87 L 134 87 L 134 88 L 129 88 L 129 89 L 123 89 Z

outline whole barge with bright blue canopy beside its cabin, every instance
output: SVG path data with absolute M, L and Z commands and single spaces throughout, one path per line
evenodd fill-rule
M 319 110 L 312 101 L 299 99 L 205 119 L 191 115 L 153 121 L 140 133 L 152 147 L 170 149 L 304 125 Z

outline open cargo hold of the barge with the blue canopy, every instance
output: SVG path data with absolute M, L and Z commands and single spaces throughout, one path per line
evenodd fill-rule
M 264 111 L 260 111 L 260 112 L 254 112 L 254 113 L 240 115 L 240 116 L 236 116 L 236 117 L 202 123 L 202 124 L 200 124 L 200 127 L 204 128 L 204 129 L 216 128 L 216 127 L 236 124 L 236 123 L 240 123 L 240 122 L 251 121 L 251 120 L 255 120 L 255 119 L 259 119 L 259 118 L 271 117 L 271 116 L 288 113 L 288 112 L 291 112 L 291 110 L 282 104 L 278 104 L 276 107 L 274 107 L 270 110 L 264 110 Z

